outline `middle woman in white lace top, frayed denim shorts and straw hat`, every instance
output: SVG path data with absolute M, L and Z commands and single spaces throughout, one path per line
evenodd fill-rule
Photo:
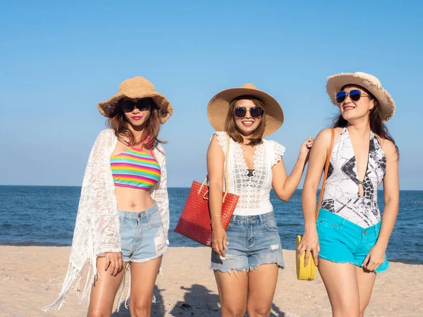
M 222 316 L 244 316 L 246 309 L 249 316 L 269 316 L 278 268 L 283 267 L 270 190 L 273 187 L 284 201 L 290 199 L 300 182 L 313 139 L 309 137 L 302 144 L 298 161 L 288 176 L 282 159 L 285 148 L 264 139 L 283 123 L 283 111 L 276 99 L 246 84 L 216 94 L 207 113 L 217 131 L 207 152 L 207 170 L 211 268 L 219 289 Z M 225 164 L 229 184 L 223 184 Z M 223 186 L 240 197 L 227 232 L 220 218 Z

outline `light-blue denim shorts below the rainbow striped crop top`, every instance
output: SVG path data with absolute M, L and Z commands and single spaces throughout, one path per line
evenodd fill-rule
M 166 252 L 166 235 L 156 203 L 146 211 L 119 210 L 118 216 L 123 261 L 143 263 Z

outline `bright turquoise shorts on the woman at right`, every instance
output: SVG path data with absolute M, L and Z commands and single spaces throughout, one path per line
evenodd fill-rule
M 320 209 L 317 218 L 317 234 L 319 235 L 319 259 L 336 263 L 352 263 L 361 266 L 370 249 L 379 237 L 381 221 L 369 228 L 362 228 L 351 221 Z M 376 273 L 388 269 L 389 262 L 382 263 L 376 268 Z

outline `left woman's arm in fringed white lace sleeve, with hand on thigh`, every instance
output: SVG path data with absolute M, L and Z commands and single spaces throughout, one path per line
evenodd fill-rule
M 111 130 L 100 132 L 94 142 L 82 181 L 68 272 L 59 297 L 44 311 L 56 305 L 60 309 L 69 292 L 80 288 L 85 266 L 90 266 L 90 269 L 87 283 L 80 293 L 81 302 L 90 301 L 91 284 L 97 279 L 97 271 L 110 268 L 109 273 L 116 274 L 123 267 L 114 182 L 109 163 L 114 145 L 114 132 Z M 97 268 L 97 256 L 108 259 L 104 268 Z

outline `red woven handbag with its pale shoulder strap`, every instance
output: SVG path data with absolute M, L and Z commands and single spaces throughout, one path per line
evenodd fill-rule
M 225 192 L 222 193 L 222 213 L 221 222 L 223 228 L 228 229 L 229 221 L 235 206 L 238 203 L 239 196 L 228 192 L 228 155 L 230 137 L 226 135 L 226 155 L 225 155 Z M 178 225 L 175 231 L 180 235 L 190 238 L 196 242 L 204 244 L 207 247 L 212 245 L 212 225 L 210 224 L 209 211 L 209 187 L 206 185 L 207 178 L 202 184 L 192 182 L 190 194 L 180 215 Z

